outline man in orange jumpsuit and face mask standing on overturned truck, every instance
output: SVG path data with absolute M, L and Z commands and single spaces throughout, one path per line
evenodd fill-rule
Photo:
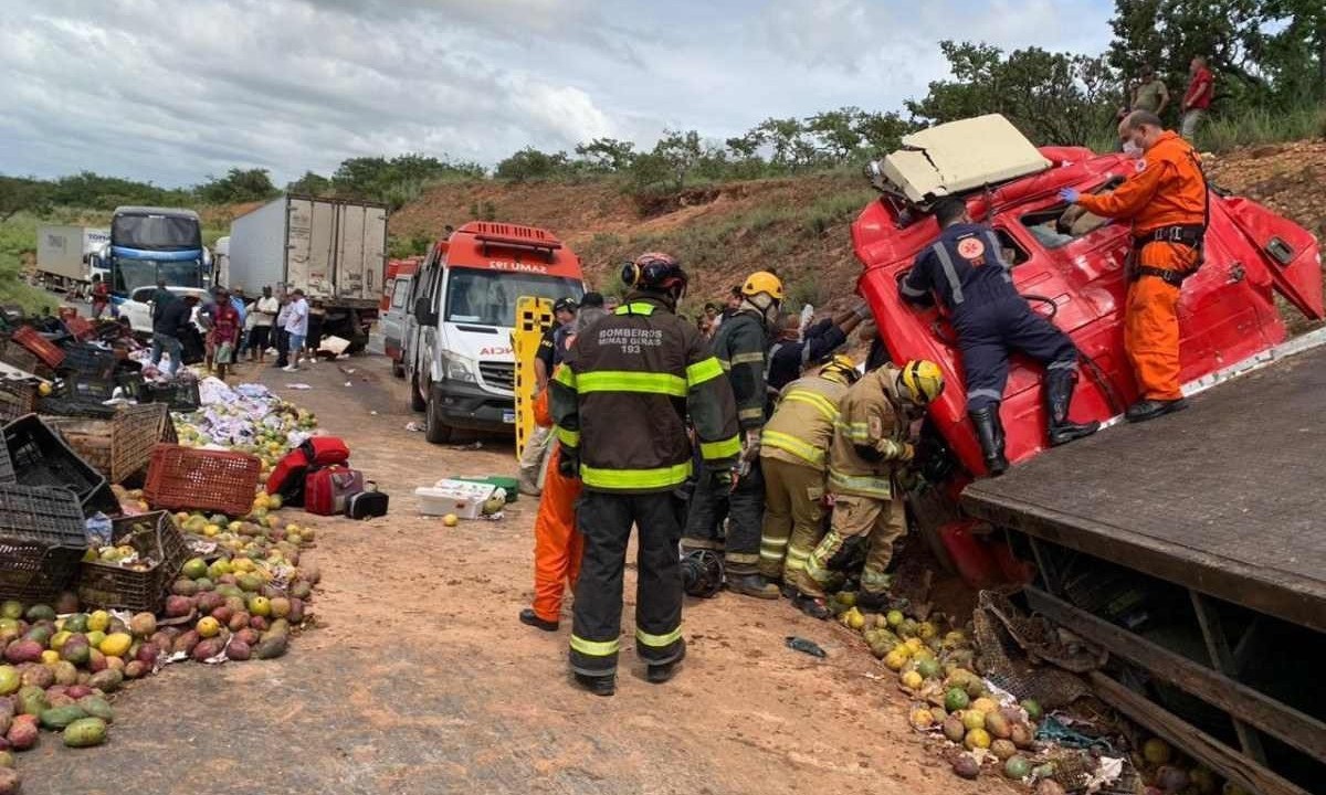
M 1196 150 L 1152 113 L 1128 114 L 1119 138 L 1143 148 L 1136 174 L 1107 193 L 1083 196 L 1065 188 L 1059 196 L 1094 215 L 1132 221 L 1123 350 L 1140 398 L 1124 416 L 1142 423 L 1185 405 L 1179 384 L 1179 292 L 1201 265 L 1207 180 Z

